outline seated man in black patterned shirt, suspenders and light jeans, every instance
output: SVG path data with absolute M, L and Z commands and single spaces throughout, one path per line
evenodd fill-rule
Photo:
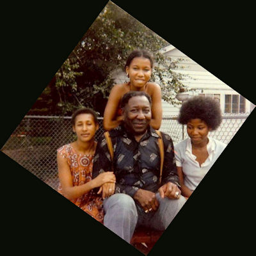
M 173 142 L 164 133 L 163 176 L 159 184 L 159 136 L 150 127 L 150 96 L 145 92 L 125 93 L 121 108 L 124 122 L 109 132 L 116 184 L 104 184 L 102 196 L 104 225 L 130 243 L 138 226 L 165 230 L 186 199 L 180 196 Z M 111 157 L 103 136 L 95 152 L 93 179 L 111 168 Z

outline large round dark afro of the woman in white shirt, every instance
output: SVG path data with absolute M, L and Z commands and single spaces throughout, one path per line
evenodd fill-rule
M 183 102 L 178 122 L 188 124 L 189 120 L 196 118 L 203 120 L 212 130 L 216 130 L 222 120 L 220 103 L 202 96 L 195 96 Z

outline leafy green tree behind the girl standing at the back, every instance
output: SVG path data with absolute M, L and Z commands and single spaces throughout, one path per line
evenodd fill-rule
M 51 108 L 55 114 L 70 115 L 74 109 L 88 106 L 102 115 L 114 84 L 113 71 L 124 70 L 132 50 L 147 49 L 157 63 L 152 81 L 161 85 L 164 100 L 177 103 L 175 95 L 185 86 L 182 76 L 175 72 L 177 61 L 160 51 L 167 45 L 163 38 L 109 1 L 56 73 L 54 86 L 51 84 L 43 94 L 55 92 L 52 104 L 56 107 Z

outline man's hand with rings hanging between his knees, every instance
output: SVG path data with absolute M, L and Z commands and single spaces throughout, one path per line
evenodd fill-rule
M 139 189 L 135 193 L 134 199 L 140 203 L 141 207 L 145 212 L 157 211 L 159 207 L 159 202 L 157 201 L 156 194 L 151 191 Z

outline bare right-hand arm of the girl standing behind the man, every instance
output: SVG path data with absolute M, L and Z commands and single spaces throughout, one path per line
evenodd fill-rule
M 151 119 L 150 125 L 155 130 L 158 130 L 161 126 L 162 115 L 163 115 L 162 93 L 161 93 L 161 87 L 159 86 L 159 84 L 154 83 L 151 99 L 152 99 L 152 108 L 151 108 L 152 119 Z

